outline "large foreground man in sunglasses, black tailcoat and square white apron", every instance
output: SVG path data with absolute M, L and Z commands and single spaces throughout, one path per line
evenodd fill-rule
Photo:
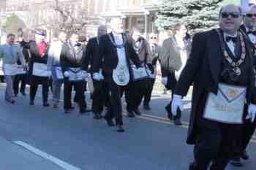
M 255 58 L 239 31 L 241 7 L 219 12 L 219 27 L 195 34 L 189 60 L 176 85 L 172 112 L 183 109 L 182 98 L 193 84 L 188 144 L 195 144 L 189 170 L 225 170 L 240 155 L 244 117 L 255 121 Z M 245 104 L 246 101 L 246 104 Z

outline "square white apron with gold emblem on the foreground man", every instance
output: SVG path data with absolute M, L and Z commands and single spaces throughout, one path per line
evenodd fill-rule
M 217 96 L 209 93 L 203 117 L 219 123 L 242 124 L 246 88 L 219 84 Z

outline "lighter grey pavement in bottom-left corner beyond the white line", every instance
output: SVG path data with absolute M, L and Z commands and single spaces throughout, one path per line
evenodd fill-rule
M 18 145 L 8 142 L 0 136 L 1 160 L 3 170 L 63 170 Z

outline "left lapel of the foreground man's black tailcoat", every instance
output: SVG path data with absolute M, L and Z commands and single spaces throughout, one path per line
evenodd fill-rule
M 220 46 L 219 36 L 216 33 L 211 39 L 208 39 L 208 64 L 210 67 L 211 75 L 215 83 L 219 82 L 219 72 L 222 64 L 222 48 Z

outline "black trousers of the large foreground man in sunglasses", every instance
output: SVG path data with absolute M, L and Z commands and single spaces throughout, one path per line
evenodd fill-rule
M 225 170 L 230 158 L 240 154 L 242 125 L 227 125 L 200 118 L 194 147 L 194 170 Z

